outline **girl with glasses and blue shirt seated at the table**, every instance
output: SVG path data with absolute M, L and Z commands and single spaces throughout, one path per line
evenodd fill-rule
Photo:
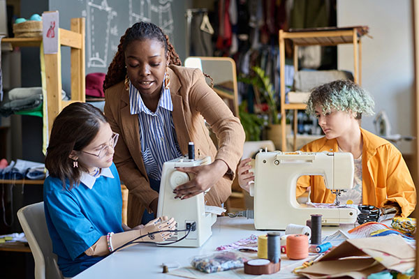
M 45 218 L 64 277 L 73 277 L 129 241 L 159 242 L 175 221 L 122 224 L 121 183 L 112 163 L 118 134 L 87 103 L 72 103 L 54 120 L 45 157 Z M 152 234 L 150 234 L 152 233 Z

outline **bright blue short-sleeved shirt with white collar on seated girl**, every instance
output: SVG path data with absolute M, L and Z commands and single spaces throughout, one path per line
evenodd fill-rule
M 91 176 L 92 177 L 92 176 Z M 52 250 L 64 277 L 73 277 L 103 257 L 90 257 L 84 251 L 108 232 L 123 232 L 122 194 L 117 168 L 112 163 L 102 169 L 96 181 L 82 177 L 79 186 L 68 190 L 61 180 L 48 176 L 44 182 L 45 218 Z

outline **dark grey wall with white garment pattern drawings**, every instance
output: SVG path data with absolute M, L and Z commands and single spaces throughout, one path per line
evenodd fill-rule
M 117 52 L 119 38 L 139 21 L 153 22 L 168 34 L 184 60 L 185 7 L 188 0 L 50 0 L 49 10 L 59 10 L 59 26 L 70 29 L 72 17 L 86 17 L 86 74 L 106 73 Z M 70 50 L 61 48 L 62 84 L 70 91 Z

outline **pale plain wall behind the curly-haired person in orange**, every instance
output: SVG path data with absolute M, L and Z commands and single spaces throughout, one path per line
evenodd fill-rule
M 376 112 L 385 110 L 392 134 L 413 135 L 413 23 L 410 0 L 338 0 L 339 27 L 368 25 L 373 38 L 362 39 L 362 86 L 376 101 Z M 339 45 L 338 67 L 353 70 L 353 48 Z M 363 118 L 363 117 L 362 117 Z M 362 127 L 375 133 L 373 117 Z M 397 144 L 402 153 L 413 153 L 411 142 Z

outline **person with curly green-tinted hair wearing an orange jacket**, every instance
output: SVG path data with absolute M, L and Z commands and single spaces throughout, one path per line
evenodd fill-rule
M 342 193 L 342 204 L 395 206 L 403 217 L 415 209 L 416 188 L 400 151 L 390 142 L 360 128 L 362 114 L 374 114 L 374 100 L 369 93 L 349 80 L 323 84 L 311 91 L 307 113 L 318 118 L 325 137 L 310 142 L 301 151 L 344 151 L 354 158 L 353 188 Z M 239 183 L 249 186 L 249 159 L 239 165 Z M 311 186 L 311 202 L 333 203 L 335 194 L 325 188 L 322 176 L 301 176 L 297 197 Z

